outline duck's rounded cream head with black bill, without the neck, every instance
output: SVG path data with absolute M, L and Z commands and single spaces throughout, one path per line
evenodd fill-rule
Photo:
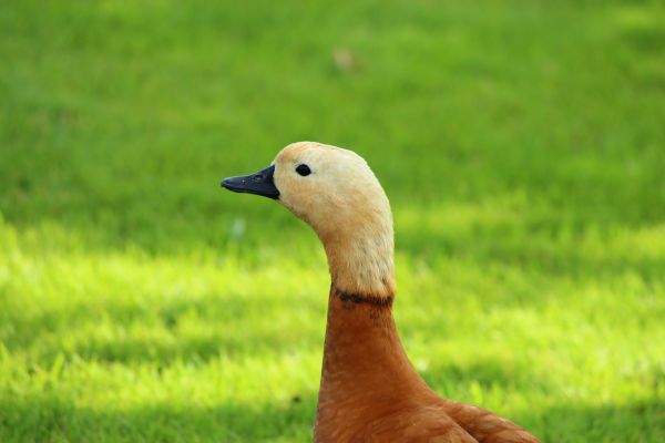
M 367 162 L 320 143 L 293 143 L 265 169 L 225 178 L 222 186 L 276 199 L 321 238 L 383 220 L 392 224 L 386 193 Z

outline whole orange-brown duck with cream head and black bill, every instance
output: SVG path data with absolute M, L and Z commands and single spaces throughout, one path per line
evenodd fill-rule
M 314 442 L 538 442 L 488 410 L 438 395 L 411 364 L 392 315 L 390 203 L 360 155 L 297 142 L 222 186 L 276 200 L 324 246 L 330 290 Z

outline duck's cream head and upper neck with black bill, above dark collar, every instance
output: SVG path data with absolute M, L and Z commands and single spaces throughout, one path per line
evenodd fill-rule
M 308 223 L 324 244 L 339 290 L 393 295 L 390 204 L 358 154 L 320 143 L 293 143 L 272 166 L 226 178 L 222 186 L 275 198 Z

